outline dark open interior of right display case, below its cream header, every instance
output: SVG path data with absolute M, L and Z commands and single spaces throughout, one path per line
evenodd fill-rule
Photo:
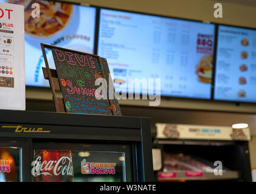
M 248 142 L 154 139 L 153 147 L 161 150 L 156 181 L 252 181 Z

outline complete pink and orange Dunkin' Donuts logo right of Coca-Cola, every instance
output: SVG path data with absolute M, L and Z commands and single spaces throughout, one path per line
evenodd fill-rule
M 110 174 L 116 173 L 116 163 L 110 162 L 87 162 L 86 159 L 81 161 L 81 173 L 82 174 Z

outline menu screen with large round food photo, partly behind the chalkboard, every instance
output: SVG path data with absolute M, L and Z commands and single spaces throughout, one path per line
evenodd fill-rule
M 94 52 L 94 7 L 56 1 L 0 0 L 24 5 L 26 85 L 49 87 L 44 79 L 45 67 L 40 43 L 56 45 L 85 53 Z M 32 17 L 33 3 L 40 5 L 40 18 Z M 47 54 L 50 68 L 54 61 Z

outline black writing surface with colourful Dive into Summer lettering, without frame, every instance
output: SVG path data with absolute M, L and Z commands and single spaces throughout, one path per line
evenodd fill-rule
M 66 112 L 91 114 L 91 115 L 121 115 L 120 107 L 116 99 L 115 105 L 105 99 L 107 93 L 103 93 L 95 85 L 98 78 L 108 80 L 109 73 L 106 59 L 103 59 L 102 67 L 98 56 L 75 52 L 66 49 L 52 48 L 55 67 L 60 81 L 61 93 Z M 97 99 L 102 97 L 104 99 Z M 116 109 L 116 107 L 118 107 Z M 115 114 L 114 114 L 115 112 Z

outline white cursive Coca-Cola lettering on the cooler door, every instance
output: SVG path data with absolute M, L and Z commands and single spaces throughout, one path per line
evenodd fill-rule
M 31 173 L 33 176 L 39 175 L 69 175 L 73 176 L 72 159 L 68 156 L 61 157 L 58 161 L 41 161 L 41 156 L 38 156 L 35 161 L 32 161 Z

